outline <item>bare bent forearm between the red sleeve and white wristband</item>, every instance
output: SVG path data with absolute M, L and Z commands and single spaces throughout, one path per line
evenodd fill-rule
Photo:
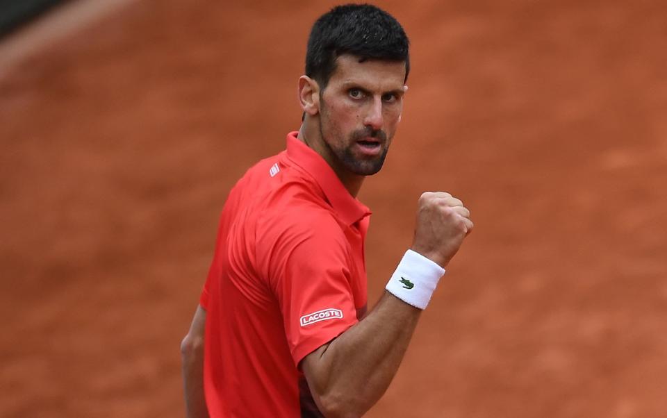
M 322 412 L 361 416 L 381 398 L 397 372 L 421 312 L 385 292 L 367 317 L 315 351 L 313 356 L 319 358 L 304 362 Z M 308 367 L 311 370 L 306 370 Z

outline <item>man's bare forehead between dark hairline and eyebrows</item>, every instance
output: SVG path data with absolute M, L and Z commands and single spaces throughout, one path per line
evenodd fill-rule
M 403 87 L 405 62 L 386 60 L 361 60 L 358 56 L 344 54 L 336 59 L 336 69 L 329 78 L 329 85 L 358 85 L 368 90 L 389 91 Z

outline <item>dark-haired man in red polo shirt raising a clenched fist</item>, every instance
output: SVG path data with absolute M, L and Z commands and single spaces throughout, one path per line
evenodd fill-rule
M 181 345 L 190 417 L 359 417 L 384 394 L 472 229 L 459 199 L 422 194 L 411 249 L 365 315 L 370 212 L 355 197 L 382 167 L 408 73 L 408 39 L 386 12 L 339 6 L 315 22 L 302 126 L 249 169 L 222 212 Z

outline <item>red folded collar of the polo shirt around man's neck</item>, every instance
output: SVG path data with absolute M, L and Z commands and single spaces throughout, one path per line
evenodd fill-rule
M 363 217 L 370 215 L 370 209 L 349 194 L 340 178 L 336 176 L 334 169 L 324 158 L 297 139 L 298 134 L 297 131 L 287 134 L 287 156 L 320 185 L 324 196 L 327 197 L 340 219 L 347 226 L 352 226 Z

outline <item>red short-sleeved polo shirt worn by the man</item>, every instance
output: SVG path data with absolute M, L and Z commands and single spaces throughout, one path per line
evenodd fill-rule
M 297 132 L 236 183 L 200 300 L 212 418 L 321 416 L 297 367 L 365 311 L 369 215 Z

